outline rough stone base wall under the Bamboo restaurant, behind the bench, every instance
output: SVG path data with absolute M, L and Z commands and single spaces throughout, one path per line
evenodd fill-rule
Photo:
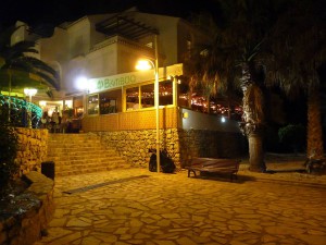
M 156 131 L 115 131 L 97 132 L 101 140 L 117 152 L 131 166 L 147 167 L 155 148 Z M 236 158 L 244 152 L 246 139 L 239 133 L 204 130 L 168 128 L 160 131 L 161 149 L 166 149 L 172 160 L 181 169 L 192 157 Z

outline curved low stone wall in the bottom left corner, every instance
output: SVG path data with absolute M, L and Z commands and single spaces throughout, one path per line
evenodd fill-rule
M 41 236 L 54 213 L 54 182 L 41 173 L 30 171 L 23 176 L 32 193 L 39 201 L 27 210 L 18 212 L 4 221 L 0 220 L 0 244 L 32 245 Z

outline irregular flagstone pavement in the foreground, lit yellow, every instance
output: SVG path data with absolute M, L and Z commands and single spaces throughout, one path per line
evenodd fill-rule
M 326 180 L 297 175 L 241 170 L 231 183 L 128 169 L 58 177 L 54 218 L 35 245 L 325 245 Z

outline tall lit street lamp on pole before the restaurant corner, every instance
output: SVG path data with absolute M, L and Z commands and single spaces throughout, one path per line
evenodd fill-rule
M 155 47 L 155 63 L 151 60 L 139 60 L 136 64 L 136 70 L 151 70 L 154 69 L 155 84 L 154 84 L 154 98 L 156 111 L 156 171 L 160 172 L 160 105 L 159 105 L 159 52 L 158 52 L 158 35 L 154 35 Z

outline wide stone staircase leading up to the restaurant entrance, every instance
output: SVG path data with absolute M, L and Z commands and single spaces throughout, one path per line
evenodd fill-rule
M 55 164 L 55 176 L 129 168 L 117 152 L 101 144 L 96 134 L 49 134 L 47 161 Z

